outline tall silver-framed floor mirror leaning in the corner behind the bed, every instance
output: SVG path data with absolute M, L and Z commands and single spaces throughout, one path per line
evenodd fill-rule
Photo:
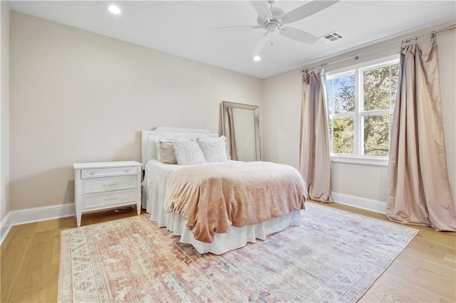
M 257 105 L 222 101 L 222 130 L 232 160 L 261 161 Z

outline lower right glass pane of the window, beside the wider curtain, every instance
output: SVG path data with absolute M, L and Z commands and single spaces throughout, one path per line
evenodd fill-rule
M 366 156 L 388 156 L 390 115 L 365 116 L 364 154 Z

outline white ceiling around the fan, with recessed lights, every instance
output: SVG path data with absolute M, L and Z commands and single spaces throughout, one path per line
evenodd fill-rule
M 285 12 L 309 1 L 276 1 Z M 108 13 L 115 3 L 122 14 Z M 339 1 L 289 24 L 320 37 L 338 31 L 334 43 L 300 43 L 274 33 L 274 45 L 252 60 L 262 29 L 214 32 L 209 28 L 256 24 L 249 1 L 9 1 L 14 11 L 82 28 L 257 78 L 456 19 L 456 1 Z

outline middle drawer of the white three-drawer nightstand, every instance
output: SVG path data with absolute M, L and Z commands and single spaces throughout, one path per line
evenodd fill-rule
M 138 186 L 136 176 L 88 179 L 83 181 L 83 194 L 102 193 L 103 191 L 120 191 L 136 188 L 136 186 Z

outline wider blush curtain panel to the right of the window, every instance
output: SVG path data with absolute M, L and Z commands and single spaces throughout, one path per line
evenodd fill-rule
M 390 220 L 456 231 L 455 201 L 447 174 L 442 127 L 437 39 L 405 44 L 388 167 Z

